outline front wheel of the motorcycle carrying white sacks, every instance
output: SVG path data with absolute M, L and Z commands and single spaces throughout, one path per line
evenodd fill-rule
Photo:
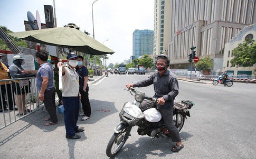
M 114 133 L 108 142 L 106 154 L 108 157 L 115 157 L 117 153 L 124 146 L 127 139 L 125 139 L 125 134 L 128 133 L 127 129 L 121 131 L 120 133 Z

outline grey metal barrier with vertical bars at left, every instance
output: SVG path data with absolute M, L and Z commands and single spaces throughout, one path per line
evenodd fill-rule
M 15 80 L 19 80 L 21 82 L 19 84 L 16 84 L 14 82 Z M 6 84 L 6 83 L 10 83 L 10 81 L 11 81 L 11 84 Z M 27 116 L 36 110 L 44 108 L 43 103 L 40 101 L 37 101 L 39 92 L 36 87 L 35 77 L 6 79 L 6 80 L 0 80 L 0 82 L 5 82 L 5 84 L 1 85 L 0 87 L 0 97 L 1 97 L 1 104 L 2 104 L 2 110 L 3 110 L 3 112 L 0 112 L 0 130 L 16 122 L 17 120 L 24 118 L 24 116 Z M 27 93 L 24 101 L 24 98 L 22 98 L 21 95 L 15 94 L 15 92 L 19 91 L 19 89 L 21 91 L 23 87 L 27 86 L 26 84 L 30 85 L 30 90 L 24 91 L 25 94 Z M 18 107 L 20 105 L 18 104 L 19 103 L 18 99 L 20 99 L 22 103 L 20 107 Z M 7 107 L 6 110 L 4 110 L 5 108 L 4 101 Z M 13 103 L 13 104 L 11 105 L 10 103 Z M 25 107 L 23 107 L 23 103 L 25 103 Z M 26 114 L 25 113 L 20 114 L 18 110 L 15 110 L 15 109 L 12 110 L 12 108 L 18 108 L 18 110 L 22 109 L 22 112 L 25 111 Z

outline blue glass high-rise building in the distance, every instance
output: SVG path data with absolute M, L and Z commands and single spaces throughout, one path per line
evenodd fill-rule
M 132 34 L 132 60 L 153 54 L 153 30 L 135 30 Z

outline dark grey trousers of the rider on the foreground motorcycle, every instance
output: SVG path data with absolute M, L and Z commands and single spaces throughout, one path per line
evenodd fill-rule
M 150 100 L 145 100 L 141 103 L 141 111 L 145 111 L 149 108 L 155 107 L 155 103 L 152 103 Z M 179 132 L 176 126 L 173 124 L 173 105 L 170 105 L 168 108 L 159 108 L 158 111 L 161 113 L 162 118 L 168 128 L 170 138 L 172 138 L 173 142 L 181 141 L 181 137 L 179 137 Z

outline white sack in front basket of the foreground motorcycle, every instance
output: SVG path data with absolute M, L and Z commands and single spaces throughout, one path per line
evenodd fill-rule
M 129 125 L 141 124 L 145 117 L 144 113 L 136 105 L 133 105 L 130 102 L 125 103 L 119 116 Z

